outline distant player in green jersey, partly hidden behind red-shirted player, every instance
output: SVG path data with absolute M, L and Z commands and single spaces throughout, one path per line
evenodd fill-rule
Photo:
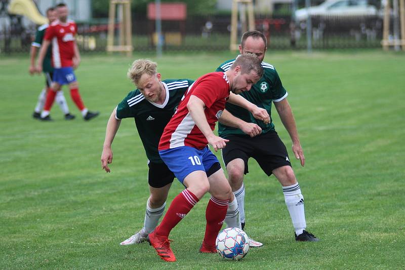
M 56 10 L 54 8 L 49 8 L 47 9 L 47 18 L 49 20 L 49 24 L 51 24 L 53 21 L 57 19 L 56 15 Z M 35 68 L 35 57 L 38 48 L 41 47 L 42 41 L 44 40 L 45 36 L 45 31 L 47 30 L 49 24 L 44 24 L 38 27 L 36 34 L 35 34 L 35 40 L 31 44 L 31 51 L 30 51 L 30 66 L 29 66 L 29 73 L 32 75 L 35 72 L 37 72 Z M 32 114 L 33 118 L 40 119 L 41 118 L 41 111 L 44 108 L 45 104 L 45 99 L 47 97 L 47 91 L 51 87 L 52 84 L 52 76 L 53 76 L 53 67 L 51 64 L 51 51 L 52 51 L 52 46 L 49 46 L 47 54 L 45 56 L 44 62 L 43 62 L 43 68 L 42 71 L 44 72 L 45 75 L 45 88 L 41 91 L 41 94 L 38 96 L 38 102 L 36 103 L 34 112 Z M 70 114 L 69 112 L 69 107 L 67 106 L 66 98 L 63 95 L 63 91 L 59 91 L 56 94 L 56 102 L 60 106 L 62 112 L 65 114 L 65 119 L 66 120 L 72 120 L 74 119 L 74 115 Z

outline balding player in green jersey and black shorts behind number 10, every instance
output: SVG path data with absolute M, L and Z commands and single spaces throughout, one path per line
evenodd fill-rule
M 241 38 L 239 52 L 256 54 L 263 61 L 266 46 L 266 37 L 261 32 L 248 31 Z M 235 59 L 224 62 L 216 71 L 228 70 L 234 61 Z M 275 68 L 265 62 L 262 62 L 262 66 L 264 68 L 263 77 L 252 87 L 251 91 L 243 92 L 240 95 L 257 106 L 265 108 L 269 115 L 271 115 L 271 102 L 274 103 L 282 124 L 290 134 L 294 155 L 300 160 L 301 166 L 304 166 L 304 153 L 294 115 L 287 101 L 287 91 L 282 86 Z M 252 157 L 268 176 L 274 174 L 281 183 L 285 202 L 295 228 L 295 239 L 297 241 L 318 241 L 314 235 L 305 230 L 304 198 L 291 167 L 286 146 L 275 132 L 272 121 L 264 124 L 244 108 L 227 103 L 226 110 L 219 120 L 218 133 L 222 138 L 229 140 L 222 150 L 222 157 L 228 172 L 229 183 L 239 206 L 242 229 L 245 227 L 243 178 L 244 174 L 249 172 L 248 160 Z

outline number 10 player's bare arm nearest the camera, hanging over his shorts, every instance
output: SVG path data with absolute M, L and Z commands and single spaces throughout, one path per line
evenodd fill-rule
M 207 138 L 208 143 L 214 147 L 214 150 L 222 149 L 226 146 L 229 140 L 215 136 L 212 132 L 210 125 L 207 122 L 206 115 L 204 113 L 205 103 L 200 98 L 192 95 L 187 103 L 187 109 L 190 112 L 191 118 L 195 125 L 199 128 L 201 133 Z

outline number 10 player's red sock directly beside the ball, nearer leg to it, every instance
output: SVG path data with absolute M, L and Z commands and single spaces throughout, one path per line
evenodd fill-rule
M 215 247 L 215 240 L 219 230 L 224 223 L 226 211 L 228 210 L 229 200 L 218 200 L 211 196 L 206 210 L 206 234 L 204 236 L 204 245 L 206 247 Z

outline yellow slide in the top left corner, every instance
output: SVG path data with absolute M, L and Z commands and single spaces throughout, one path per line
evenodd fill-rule
M 9 4 L 9 13 L 26 16 L 36 24 L 48 23 L 48 18 L 39 13 L 31 0 L 12 0 Z

